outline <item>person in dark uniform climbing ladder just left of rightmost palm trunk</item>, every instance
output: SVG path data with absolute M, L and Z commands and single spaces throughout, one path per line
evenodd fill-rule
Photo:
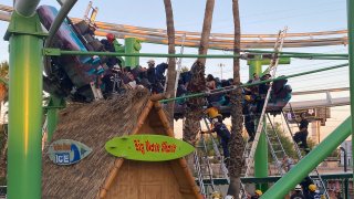
M 220 145 L 222 147 L 223 157 L 225 159 L 230 157 L 228 143 L 230 140 L 231 134 L 226 125 L 222 123 L 222 117 L 214 118 L 212 119 L 214 128 L 211 133 L 216 132 L 218 137 L 220 138 Z

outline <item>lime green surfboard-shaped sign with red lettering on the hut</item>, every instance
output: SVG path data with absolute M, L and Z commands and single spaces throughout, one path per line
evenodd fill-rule
M 188 143 L 162 135 L 115 137 L 106 143 L 105 148 L 114 156 L 140 161 L 177 159 L 195 150 Z

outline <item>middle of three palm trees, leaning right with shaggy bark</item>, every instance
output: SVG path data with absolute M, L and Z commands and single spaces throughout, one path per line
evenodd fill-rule
M 215 0 L 207 0 L 202 31 L 199 44 L 199 55 L 207 54 L 209 46 L 209 36 L 211 31 L 212 12 L 214 12 Z M 189 93 L 199 93 L 206 91 L 205 80 L 205 65 L 206 59 L 198 59 L 191 66 L 191 81 L 188 84 Z M 187 101 L 188 108 L 186 111 L 186 119 L 184 123 L 184 139 L 191 143 L 196 143 L 196 136 L 199 132 L 199 122 L 202 117 L 202 105 L 205 104 L 204 98 L 190 98 Z

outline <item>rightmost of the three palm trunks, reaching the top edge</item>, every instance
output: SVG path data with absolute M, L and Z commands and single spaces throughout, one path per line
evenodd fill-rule
M 233 39 L 233 54 L 240 54 L 240 14 L 239 14 L 239 2 L 238 0 L 232 0 L 232 13 L 233 13 L 233 24 L 235 24 L 235 39 Z M 233 57 L 233 84 L 240 85 L 240 60 L 239 57 Z M 238 88 L 231 94 L 231 139 L 230 139 L 230 164 L 229 164 L 229 175 L 230 175 L 230 186 L 228 189 L 228 195 L 235 198 L 239 197 L 240 192 L 240 177 L 243 166 L 243 138 L 242 138 L 242 91 Z

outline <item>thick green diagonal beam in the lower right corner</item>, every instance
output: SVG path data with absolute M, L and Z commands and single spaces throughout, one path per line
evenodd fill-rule
M 295 167 L 277 181 L 261 198 L 283 198 L 301 182 L 321 161 L 323 161 L 352 133 L 352 117 L 348 117 L 325 139 L 311 150 Z

